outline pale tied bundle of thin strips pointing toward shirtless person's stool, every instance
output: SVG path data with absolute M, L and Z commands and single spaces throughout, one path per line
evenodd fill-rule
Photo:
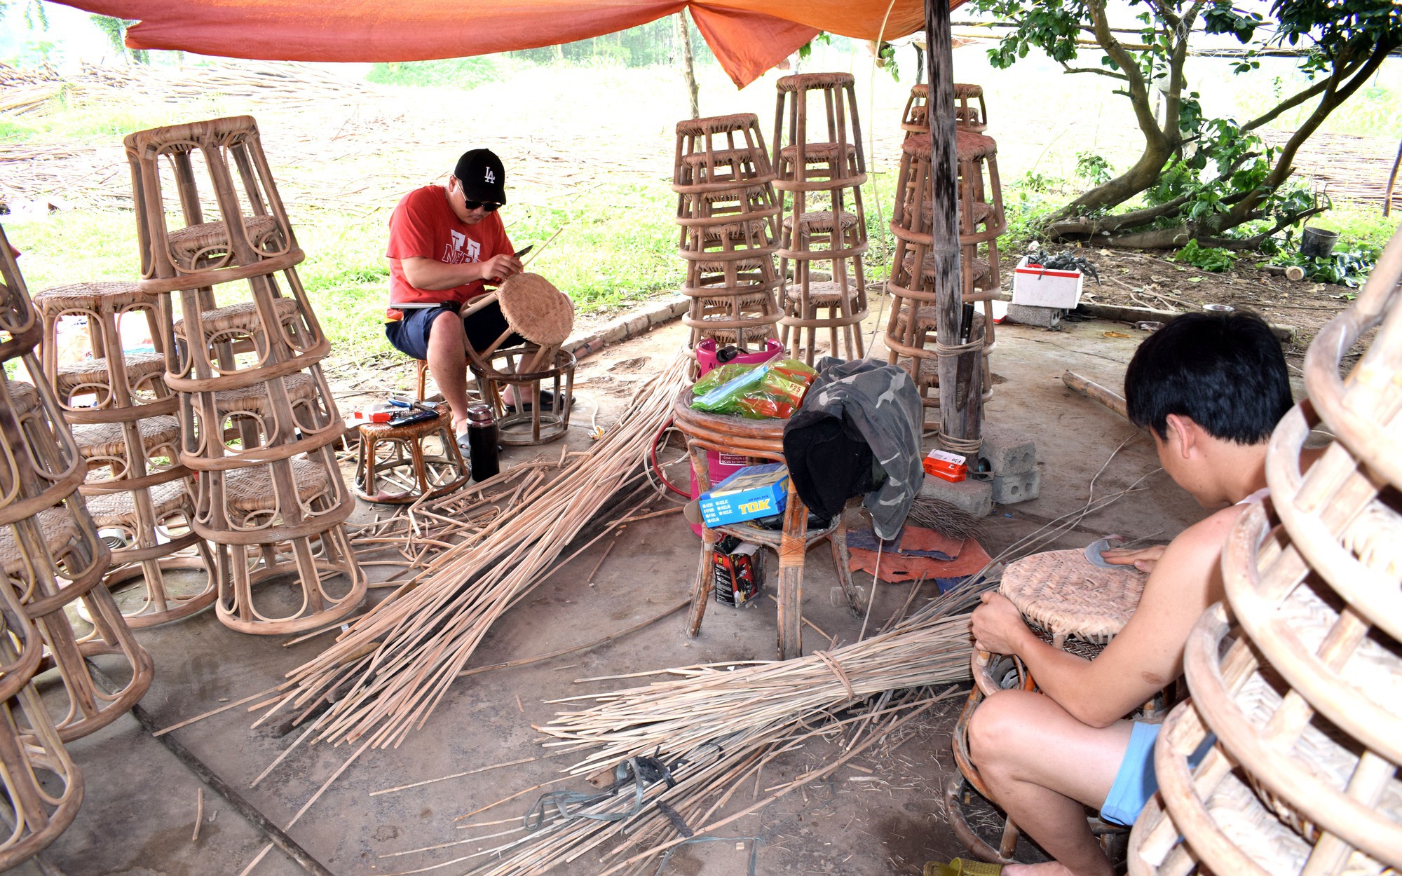
M 831 652 L 723 669 L 679 670 L 687 677 L 552 702 L 594 701 L 536 727 L 593 748 L 571 772 L 593 772 L 638 754 L 667 760 L 712 740 L 787 726 L 795 716 L 843 709 L 872 694 L 969 678 L 969 617 L 981 579 L 932 600 L 890 632 Z M 658 754 L 660 753 L 660 754 Z

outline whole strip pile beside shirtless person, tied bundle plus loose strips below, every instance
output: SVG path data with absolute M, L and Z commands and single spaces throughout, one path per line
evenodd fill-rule
M 488 837 L 515 838 L 435 869 L 489 858 L 470 872 L 543 873 L 589 855 L 601 876 L 655 870 L 658 856 L 667 849 L 768 806 L 879 741 L 890 743 L 893 732 L 955 694 L 955 687 L 937 691 L 935 685 L 969 677 L 966 612 L 988 586 L 974 577 L 889 632 L 831 652 L 733 671 L 669 670 L 683 678 L 557 701 L 599 702 L 537 727 L 562 740 L 547 744 L 592 750 L 568 772 L 617 764 L 622 781 L 597 793 L 545 795 L 520 827 L 495 827 L 506 821 L 465 824 L 491 833 L 461 844 L 481 848 Z M 763 788 L 765 796 L 760 798 L 764 767 L 816 737 L 836 741 L 837 755 Z M 669 769 L 670 782 L 656 774 L 660 765 Z M 641 781 L 635 778 L 639 771 Z M 613 769 L 606 774 L 618 775 Z M 750 806 L 721 814 L 737 793 L 751 788 Z

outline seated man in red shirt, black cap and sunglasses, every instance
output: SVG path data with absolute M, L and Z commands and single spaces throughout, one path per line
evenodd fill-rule
M 447 185 L 405 195 L 390 214 L 390 310 L 384 334 L 395 349 L 429 363 L 453 411 L 453 430 L 467 433 L 467 343 L 485 349 L 509 329 L 495 303 L 463 318 L 458 310 L 484 294 L 484 280 L 522 272 L 502 217 L 506 170 L 485 149 L 463 153 Z M 411 307 L 395 307 L 409 304 Z M 516 335 L 503 346 L 522 343 Z M 544 399 L 543 399 L 544 404 Z

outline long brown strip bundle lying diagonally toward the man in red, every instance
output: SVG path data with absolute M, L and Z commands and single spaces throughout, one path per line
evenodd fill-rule
M 422 726 L 492 622 L 541 580 L 610 496 L 642 477 L 651 440 L 687 381 L 687 363 L 679 355 L 587 454 L 554 478 L 544 468 L 527 475 L 513 513 L 446 548 L 416 586 L 393 593 L 290 671 L 285 687 L 292 690 L 266 716 L 300 709 L 293 723 L 311 720 L 303 739 L 374 747 L 398 746 Z

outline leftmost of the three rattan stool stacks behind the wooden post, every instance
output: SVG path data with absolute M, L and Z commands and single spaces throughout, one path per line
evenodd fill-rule
M 777 336 L 774 299 L 778 200 L 753 114 L 677 122 L 680 254 L 687 262 L 683 322 L 694 349 L 705 339 L 742 349 Z

